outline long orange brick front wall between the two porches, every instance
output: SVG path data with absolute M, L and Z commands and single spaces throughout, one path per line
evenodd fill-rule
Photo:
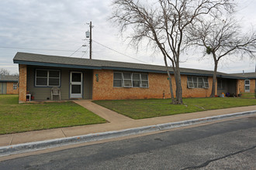
M 97 82 L 96 74 L 99 75 Z M 148 73 L 148 88 L 113 87 L 113 70 L 94 70 L 93 72 L 93 100 L 145 99 L 170 97 L 168 76 L 165 73 Z M 171 78 L 175 93 L 175 79 Z M 209 78 L 209 89 L 187 88 L 187 76 L 182 76 L 183 97 L 209 97 L 212 79 Z

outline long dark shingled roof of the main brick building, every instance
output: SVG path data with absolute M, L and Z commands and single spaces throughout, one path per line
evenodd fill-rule
M 139 64 L 139 63 L 124 63 L 99 59 L 81 59 L 67 56 L 48 56 L 34 53 L 16 53 L 13 58 L 14 63 L 36 65 L 36 66 L 58 66 L 68 68 L 81 69 L 106 69 L 106 70 L 126 70 L 126 71 L 140 71 L 153 73 L 166 73 L 165 66 Z M 170 69 L 172 72 L 172 69 Z M 196 70 L 181 68 L 181 74 L 198 75 L 198 76 L 213 76 L 213 71 Z M 217 76 L 223 78 L 237 78 L 227 73 L 217 73 Z

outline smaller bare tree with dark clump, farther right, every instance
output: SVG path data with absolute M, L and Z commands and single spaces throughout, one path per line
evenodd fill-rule
M 214 61 L 213 89 L 210 97 L 215 97 L 216 72 L 220 59 L 228 56 L 254 57 L 256 53 L 255 32 L 242 33 L 239 22 L 230 15 L 227 19 L 210 19 L 199 22 L 190 29 L 191 42 L 202 46 L 206 54 L 211 54 Z

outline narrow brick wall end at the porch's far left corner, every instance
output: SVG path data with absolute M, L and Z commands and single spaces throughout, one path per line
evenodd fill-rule
M 19 103 L 26 102 L 26 65 L 19 64 Z

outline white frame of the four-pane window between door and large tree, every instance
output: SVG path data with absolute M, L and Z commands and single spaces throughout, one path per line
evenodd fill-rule
M 121 81 L 122 82 L 122 87 L 126 87 L 126 88 L 127 87 L 128 88 L 133 87 L 133 74 L 139 74 L 140 75 L 140 80 L 136 80 L 136 81 L 140 81 L 140 87 L 134 87 L 134 88 L 148 88 L 149 87 L 149 80 L 148 80 L 148 74 L 147 73 L 130 73 L 130 72 L 117 72 L 117 71 L 115 71 L 113 73 L 113 87 L 115 87 L 114 86 L 114 80 L 120 80 L 120 79 L 115 79 L 114 78 L 115 73 L 121 73 L 121 76 L 122 76 L 122 81 Z M 124 76 L 123 76 L 124 73 L 130 73 L 130 79 L 125 79 Z M 147 76 L 147 80 L 142 80 L 141 75 L 146 75 Z M 125 80 L 129 80 L 131 85 L 130 86 L 125 86 L 125 83 L 124 83 Z M 142 82 L 147 82 L 147 87 L 143 87 L 142 86 Z

